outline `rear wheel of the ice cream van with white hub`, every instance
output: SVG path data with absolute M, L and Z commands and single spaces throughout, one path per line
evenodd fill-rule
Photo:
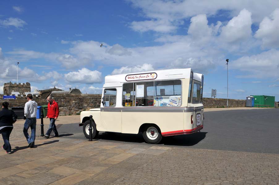
M 142 136 L 150 144 L 158 144 L 162 140 L 161 130 L 157 125 L 147 125 L 143 130 Z

